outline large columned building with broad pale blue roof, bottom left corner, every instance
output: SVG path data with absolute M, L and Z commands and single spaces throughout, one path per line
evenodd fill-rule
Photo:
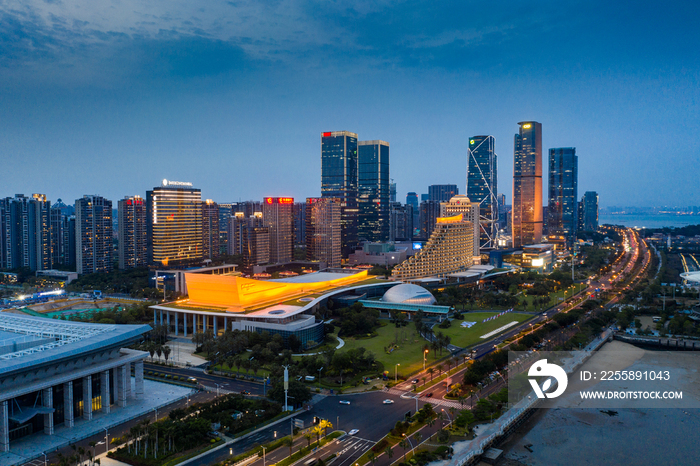
M 32 459 L 13 454 L 17 444 L 69 436 L 66 430 L 94 415 L 116 413 L 142 398 L 148 353 L 126 347 L 150 329 L 0 314 L 0 464 Z M 98 432 L 102 427 L 91 435 Z

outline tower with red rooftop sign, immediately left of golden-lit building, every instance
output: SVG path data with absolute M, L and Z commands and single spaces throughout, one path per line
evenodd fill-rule
M 117 203 L 119 229 L 119 268 L 135 269 L 148 265 L 146 201 L 128 196 Z

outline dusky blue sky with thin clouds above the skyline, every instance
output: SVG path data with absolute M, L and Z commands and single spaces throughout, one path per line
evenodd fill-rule
M 0 0 L 0 196 L 320 194 L 320 133 L 391 144 L 399 198 L 465 189 L 517 122 L 603 206 L 700 205 L 700 5 Z M 545 154 L 546 165 L 546 154 Z M 546 176 L 545 176 L 546 185 Z M 546 199 L 545 199 L 546 203 Z

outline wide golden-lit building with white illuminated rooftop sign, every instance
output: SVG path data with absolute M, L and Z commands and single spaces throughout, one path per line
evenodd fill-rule
M 202 191 L 192 183 L 163 180 L 146 192 L 148 263 L 158 267 L 202 260 Z

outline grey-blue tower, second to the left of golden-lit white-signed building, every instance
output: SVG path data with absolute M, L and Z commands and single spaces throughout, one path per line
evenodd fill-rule
M 111 272 L 112 201 L 95 195 L 76 199 L 75 227 L 76 271 Z

